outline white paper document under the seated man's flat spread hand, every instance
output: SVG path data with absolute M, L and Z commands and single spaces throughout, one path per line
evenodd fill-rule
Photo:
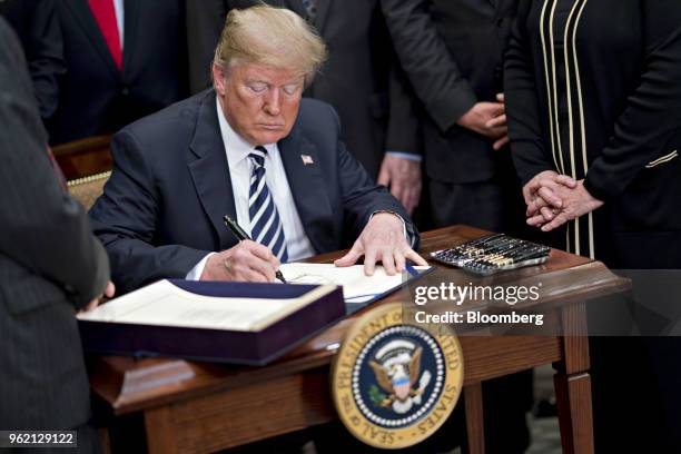
M 289 284 L 333 284 L 343 286 L 345 303 L 365 303 L 401 286 L 411 276 L 408 273 L 388 276 L 382 266 L 373 276 L 364 274 L 363 265 L 339 268 L 333 264 L 284 264 L 279 268 Z M 428 266 L 415 266 L 423 272 Z

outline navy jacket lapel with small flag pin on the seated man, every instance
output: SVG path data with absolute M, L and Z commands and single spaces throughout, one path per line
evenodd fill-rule
M 315 250 L 334 250 L 332 207 L 324 188 L 326 182 L 319 168 L 317 148 L 294 127 L 278 144 L 288 186 L 303 228 Z M 303 156 L 312 158 L 305 164 Z

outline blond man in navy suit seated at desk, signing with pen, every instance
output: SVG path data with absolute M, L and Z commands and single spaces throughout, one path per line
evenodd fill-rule
M 115 168 L 90 215 L 124 292 L 165 277 L 273 282 L 279 261 L 349 246 L 372 274 L 405 259 L 417 234 L 339 139 L 333 108 L 302 100 L 326 53 L 295 13 L 233 10 L 215 89 L 116 135 Z M 236 218 L 256 241 L 225 227 Z M 408 239 L 408 241 L 407 241 Z

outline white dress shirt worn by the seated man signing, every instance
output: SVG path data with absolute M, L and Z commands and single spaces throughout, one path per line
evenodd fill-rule
M 250 190 L 250 176 L 253 174 L 253 160 L 248 155 L 255 149 L 239 135 L 237 135 L 223 114 L 220 103 L 216 98 L 218 121 L 220 124 L 220 135 L 227 152 L 229 164 L 229 177 L 231 178 L 231 193 L 236 207 L 237 223 L 250 236 L 251 225 L 248 210 L 248 194 Z M 312 257 L 316 254 L 309 238 L 305 234 L 298 209 L 294 203 L 288 178 L 284 169 L 284 162 L 279 155 L 277 144 L 263 145 L 267 150 L 265 156 L 265 182 L 274 198 L 274 203 L 279 211 L 279 218 L 284 227 L 286 238 L 286 250 L 288 261 L 299 260 Z M 215 254 L 215 253 L 213 253 Z M 198 280 L 206 266 L 206 260 L 211 254 L 204 257 L 187 275 L 187 279 Z

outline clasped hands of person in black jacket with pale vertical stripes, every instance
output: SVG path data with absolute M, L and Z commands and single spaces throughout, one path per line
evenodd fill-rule
M 589 194 L 584 180 L 575 180 L 553 170 L 545 170 L 532 178 L 523 188 L 527 205 L 527 225 L 551 231 L 575 219 L 603 203 Z

